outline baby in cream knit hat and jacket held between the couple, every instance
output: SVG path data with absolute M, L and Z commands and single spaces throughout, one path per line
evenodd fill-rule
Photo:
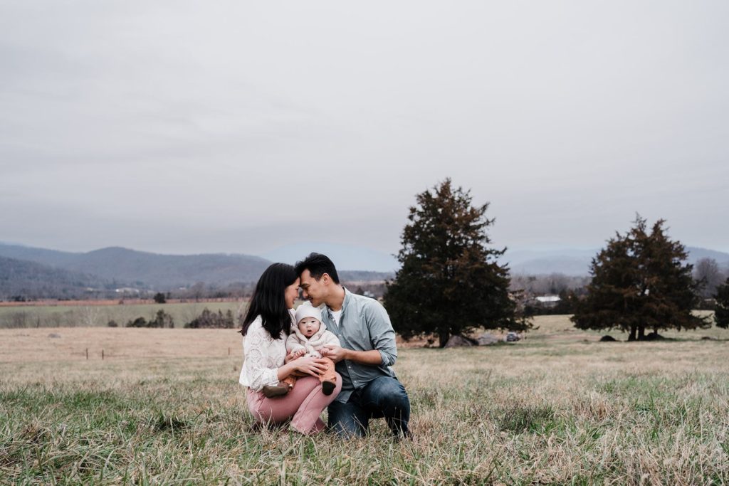
M 324 345 L 340 345 L 339 339 L 321 322 L 321 310 L 313 307 L 309 302 L 304 302 L 296 310 L 296 326 L 291 326 L 291 334 L 286 339 L 286 351 L 292 353 L 294 359 L 302 356 L 321 358 L 327 361 L 327 371 L 319 376 L 321 391 L 324 395 L 331 395 L 337 385 L 337 375 L 334 371 L 334 361 L 321 356 L 321 348 Z M 306 376 L 306 375 L 302 375 Z M 263 394 L 269 398 L 285 395 L 296 383 L 295 376 L 289 376 L 281 380 L 276 386 L 266 385 L 263 387 Z

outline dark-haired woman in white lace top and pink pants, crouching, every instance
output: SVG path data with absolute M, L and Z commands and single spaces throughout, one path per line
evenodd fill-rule
M 319 415 L 339 394 L 342 377 L 330 395 L 321 391 L 319 375 L 327 371 L 321 358 L 293 359 L 286 355 L 286 337 L 294 321 L 294 301 L 299 294 L 294 267 L 274 263 L 268 267 L 253 293 L 243 319 L 243 369 L 241 385 L 248 387 L 248 408 L 258 423 L 281 423 L 292 418 L 290 428 L 301 434 L 324 429 Z M 283 396 L 264 394 L 281 389 L 278 383 L 289 375 L 303 375 Z

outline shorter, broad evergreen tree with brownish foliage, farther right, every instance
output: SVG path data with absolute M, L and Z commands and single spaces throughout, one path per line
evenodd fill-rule
M 684 264 L 685 247 L 672 241 L 658 220 L 648 230 L 636 216 L 625 235 L 616 232 L 593 258 L 587 297 L 572 317 L 579 329 L 621 329 L 628 340 L 643 340 L 645 330 L 696 329 L 705 320 L 691 314 L 700 284 Z

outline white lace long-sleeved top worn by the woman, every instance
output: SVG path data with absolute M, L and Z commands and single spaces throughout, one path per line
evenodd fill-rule
M 243 336 L 243 367 L 238 382 L 254 391 L 278 383 L 278 368 L 284 366 L 286 358 L 286 334 L 273 339 L 262 324 L 259 315 Z

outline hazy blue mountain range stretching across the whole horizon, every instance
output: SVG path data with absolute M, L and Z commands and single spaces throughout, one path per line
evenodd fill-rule
M 397 268 L 393 256 L 356 246 L 302 243 L 270 251 L 265 256 L 243 254 L 164 255 L 128 248 L 109 247 L 86 253 L 49 250 L 0 243 L 0 298 L 35 289 L 35 297 L 65 297 L 85 289 L 134 287 L 168 291 L 203 282 L 211 286 L 252 283 L 272 261 L 295 262 L 312 248 L 327 253 L 335 262 L 354 264 L 364 270 L 340 270 L 343 281 L 383 281 Z M 588 275 L 597 249 L 550 251 L 509 250 L 499 259 L 512 274 Z M 687 247 L 688 262 L 712 258 L 729 268 L 729 254 L 706 248 Z M 338 265 L 340 266 L 340 265 Z

